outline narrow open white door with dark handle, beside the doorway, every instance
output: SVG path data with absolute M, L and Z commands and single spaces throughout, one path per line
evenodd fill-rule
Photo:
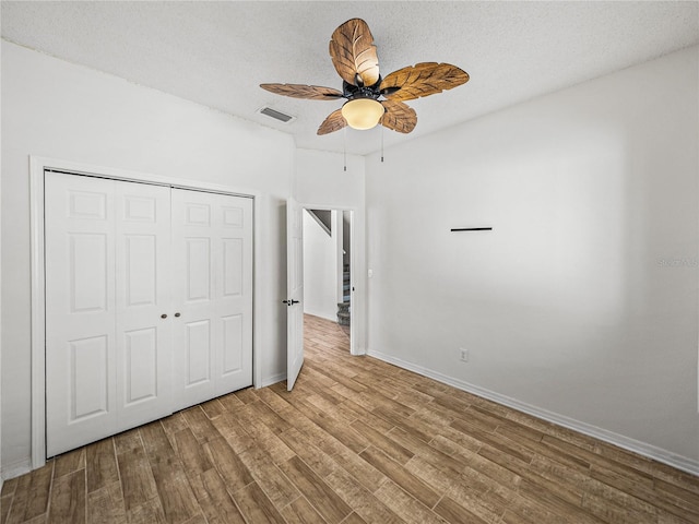
M 286 201 L 286 389 L 292 391 L 304 365 L 303 207 Z

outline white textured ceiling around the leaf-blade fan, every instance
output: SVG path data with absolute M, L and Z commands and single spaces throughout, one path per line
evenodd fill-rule
M 379 128 L 317 136 L 340 100 L 297 100 L 265 82 L 341 88 L 328 55 L 333 29 L 369 24 L 383 75 L 420 61 L 471 75 L 408 102 L 413 133 L 386 146 L 639 63 L 699 41 L 696 1 L 613 2 L 12 2 L 2 36 L 217 110 L 279 129 L 304 148 L 367 154 Z M 293 115 L 280 123 L 263 106 Z

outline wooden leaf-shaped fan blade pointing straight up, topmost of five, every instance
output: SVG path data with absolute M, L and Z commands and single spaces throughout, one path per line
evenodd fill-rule
M 362 19 L 348 20 L 333 32 L 330 57 L 337 74 L 348 84 L 369 86 L 379 81 L 374 36 Z

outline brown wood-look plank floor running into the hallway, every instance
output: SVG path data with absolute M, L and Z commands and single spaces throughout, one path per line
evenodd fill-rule
M 306 364 L 4 483 L 19 523 L 699 523 L 699 478 L 369 357 Z

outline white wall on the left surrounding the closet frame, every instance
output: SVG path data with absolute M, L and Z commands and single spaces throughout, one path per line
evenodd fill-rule
M 285 377 L 285 200 L 293 140 L 161 92 L 2 41 L 2 471 L 29 457 L 28 157 L 261 194 L 262 381 Z

